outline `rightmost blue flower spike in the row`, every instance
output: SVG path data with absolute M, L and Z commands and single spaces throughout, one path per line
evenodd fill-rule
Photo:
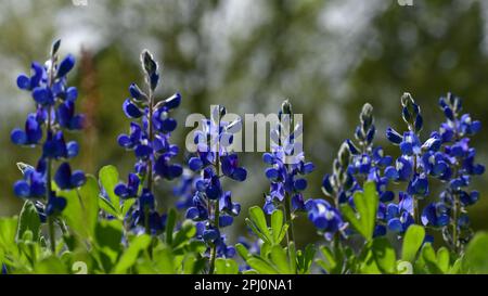
M 475 163 L 476 150 L 470 146 L 471 137 L 479 132 L 481 124 L 461 114 L 462 100 L 452 93 L 440 98 L 439 106 L 446 116 L 437 132 L 440 147 L 424 155 L 423 167 L 446 186 L 439 201 L 425 207 L 422 222 L 441 228 L 445 241 L 459 250 L 472 235 L 466 207 L 479 198 L 478 191 L 468 191 L 467 186 L 473 176 L 485 172 L 485 167 Z

